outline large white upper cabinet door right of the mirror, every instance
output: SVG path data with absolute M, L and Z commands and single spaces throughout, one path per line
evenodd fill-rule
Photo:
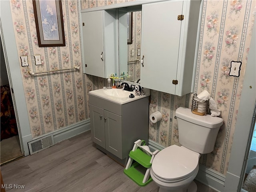
M 182 7 L 183 1 L 142 5 L 140 84 L 146 88 L 175 94 Z

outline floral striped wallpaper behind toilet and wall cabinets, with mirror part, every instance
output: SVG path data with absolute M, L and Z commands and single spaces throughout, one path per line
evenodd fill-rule
M 118 1 L 82 1 L 82 8 L 92 8 Z M 240 94 L 246 69 L 247 56 L 255 19 L 256 1 L 254 0 L 203 0 L 202 23 L 200 28 L 200 44 L 196 66 L 195 93 L 207 90 L 222 111 L 224 120 L 220 128 L 214 151 L 204 154 L 200 163 L 226 175 L 236 116 L 240 102 Z M 141 12 L 134 15 L 133 41 L 131 48 L 140 48 Z M 231 61 L 241 61 L 240 77 L 229 76 Z M 140 67 L 136 63 L 128 64 L 131 77 L 136 80 Z M 175 110 L 184 106 L 191 108 L 192 94 L 182 97 L 151 90 L 150 114 L 160 111 L 162 120 L 153 124 L 149 122 L 149 139 L 164 146 L 178 142 L 178 124 L 174 118 Z

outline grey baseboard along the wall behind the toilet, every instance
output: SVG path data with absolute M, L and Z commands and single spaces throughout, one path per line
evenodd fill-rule
M 148 140 L 148 146 L 150 150 L 163 150 L 165 148 L 152 140 Z M 204 184 L 205 186 L 221 192 L 224 188 L 225 176 L 202 164 L 199 164 L 199 171 L 195 180 Z

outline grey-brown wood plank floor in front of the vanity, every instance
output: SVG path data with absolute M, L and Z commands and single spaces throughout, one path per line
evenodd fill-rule
M 123 170 L 123 166 L 92 146 L 90 131 L 1 166 L 6 192 L 158 191 L 154 182 L 138 186 Z M 214 192 L 197 184 L 198 192 Z

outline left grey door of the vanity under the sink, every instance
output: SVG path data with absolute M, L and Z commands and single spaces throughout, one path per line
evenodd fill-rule
M 90 104 L 92 141 L 105 148 L 104 110 Z

